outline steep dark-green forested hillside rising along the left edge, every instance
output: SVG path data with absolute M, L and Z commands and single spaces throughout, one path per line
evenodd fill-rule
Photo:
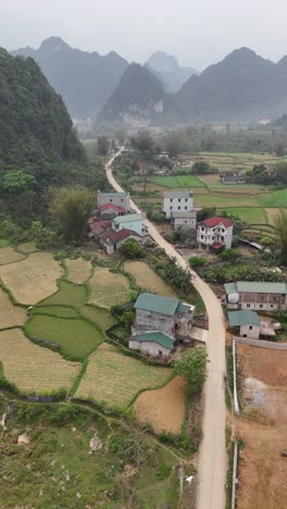
M 0 49 L 0 212 L 43 218 L 50 187 L 101 181 L 36 62 Z

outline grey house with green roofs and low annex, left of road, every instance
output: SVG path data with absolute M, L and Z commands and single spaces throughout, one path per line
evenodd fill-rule
M 184 336 L 192 327 L 195 307 L 179 299 L 140 294 L 134 308 L 136 319 L 132 327 L 129 347 L 139 351 L 145 350 L 148 355 L 169 357 L 177 336 Z M 146 336 L 150 333 L 152 335 Z M 146 337 L 149 338 L 147 344 Z M 160 339 L 163 342 L 163 337 L 165 337 L 164 344 L 160 343 Z

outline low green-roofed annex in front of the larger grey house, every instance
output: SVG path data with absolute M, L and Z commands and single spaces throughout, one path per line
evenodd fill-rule
M 175 339 L 169 334 L 160 331 L 152 331 L 132 336 L 128 346 L 132 350 L 141 353 L 169 359 L 174 349 Z

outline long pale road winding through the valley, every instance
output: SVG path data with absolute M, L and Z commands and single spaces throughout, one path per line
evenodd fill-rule
M 107 177 L 116 191 L 123 191 L 113 177 L 111 165 L 118 156 L 117 152 L 105 165 Z M 132 207 L 141 212 L 132 202 Z M 158 232 L 155 226 L 145 220 L 150 236 L 161 246 L 167 254 L 176 257 L 178 264 L 189 269 L 184 258 Z M 198 462 L 198 509 L 225 508 L 225 480 L 227 457 L 225 451 L 225 327 L 222 308 L 217 297 L 211 288 L 190 270 L 194 285 L 200 293 L 208 314 L 209 333 L 207 348 L 209 353 L 208 378 L 204 386 L 203 438 L 199 450 Z

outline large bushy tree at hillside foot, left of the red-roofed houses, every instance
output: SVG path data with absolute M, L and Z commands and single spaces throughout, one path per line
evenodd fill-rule
M 95 200 L 95 194 L 84 187 L 54 191 L 50 213 L 59 221 L 66 240 L 77 243 L 84 237 Z

